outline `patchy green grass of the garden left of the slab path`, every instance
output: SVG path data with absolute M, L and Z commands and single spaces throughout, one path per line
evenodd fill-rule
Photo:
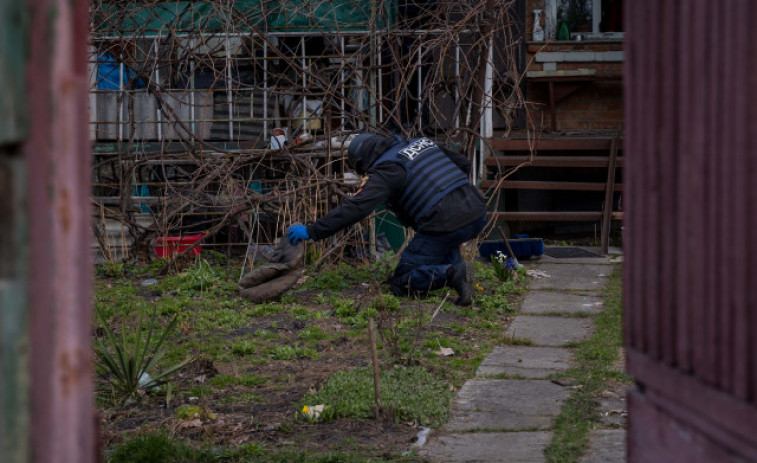
M 264 304 L 253 304 L 238 297 L 238 266 L 227 268 L 214 263 L 212 257 L 207 262 L 210 266 L 205 261 L 193 260 L 186 262 L 184 268 L 179 263 L 169 268 L 168 274 L 158 272 L 153 266 L 125 268 L 121 277 L 117 276 L 118 271 L 111 272 L 114 276 L 109 277 L 101 271 L 95 282 L 95 299 L 102 306 L 108 325 L 123 327 L 127 330 L 127 338 L 134 336 L 131 331 L 140 307 L 150 310 L 155 307 L 161 322 L 177 315 L 178 330 L 166 342 L 166 354 L 157 366 L 164 367 L 192 355 L 204 360 L 198 362 L 198 366 L 202 365 L 200 371 L 208 372 L 215 366 L 217 371 L 223 372 L 215 376 L 208 373 L 207 381 L 202 384 L 192 380 L 200 374 L 199 371 L 177 377 L 172 383 L 174 389 L 170 396 L 175 398 L 174 404 L 180 404 L 182 398 L 195 396 L 201 398 L 208 410 L 215 409 L 214 404 L 219 403 L 234 406 L 266 403 L 270 400 L 269 392 L 290 391 L 293 381 L 299 380 L 301 375 L 285 374 L 281 369 L 290 366 L 282 365 L 282 361 L 297 362 L 297 368 L 308 369 L 320 368 L 324 361 L 337 362 L 337 365 L 343 362 L 341 368 L 344 369 L 364 365 L 362 357 L 369 352 L 368 320 L 374 318 L 379 328 L 378 354 L 384 365 L 382 393 L 387 416 L 403 423 L 415 421 L 440 426 L 446 420 L 450 398 L 454 394 L 450 386 L 458 387 L 475 374 L 478 364 L 502 337 L 514 296 L 523 292 L 523 285 L 502 284 L 489 266 L 477 263 L 476 281 L 486 289 L 477 293 L 476 304 L 457 307 L 447 299 L 435 323 L 428 325 L 431 314 L 442 304 L 448 290 L 436 291 L 421 300 L 396 298 L 382 284 L 391 273 L 392 267 L 387 262 L 324 269 L 304 287 L 294 289 L 279 301 Z M 141 286 L 145 278 L 152 277 L 158 280 L 157 284 Z M 364 282 L 369 287 L 363 285 Z M 452 293 L 454 299 L 454 291 Z M 406 360 L 399 364 L 405 366 L 394 367 L 389 340 L 379 326 L 382 316 L 395 321 L 392 328 L 396 330 L 396 347 L 400 360 Z M 420 325 L 423 326 L 419 330 Z M 435 353 L 439 345 L 453 348 L 455 355 L 439 356 Z M 363 349 L 365 354 L 360 353 Z M 321 383 L 324 379 L 320 379 Z M 356 382 L 350 382 L 353 380 Z M 321 383 L 313 386 L 318 387 Z M 345 383 L 355 387 L 347 387 Z M 109 406 L 110 402 L 103 394 L 99 391 L 98 404 Z M 331 394 L 330 398 L 326 397 L 328 394 Z M 284 408 L 287 413 L 291 412 L 289 416 L 293 416 L 303 404 L 317 405 L 328 400 L 338 414 L 337 418 L 373 419 L 372 394 L 372 373 L 368 369 L 359 373 L 344 370 L 333 375 L 316 396 L 297 395 Z M 135 409 L 139 412 L 154 407 L 157 402 L 169 400 L 161 391 L 138 398 Z M 178 418 L 174 416 L 173 419 Z M 294 419 L 285 421 L 289 430 L 283 432 L 293 433 L 292 439 L 307 439 L 300 433 L 310 429 L 310 423 Z M 148 420 L 144 429 L 171 428 L 170 423 L 164 425 Z M 109 444 L 112 461 L 412 460 L 412 457 L 407 460 L 392 452 L 386 453 L 386 449 L 378 451 L 360 439 L 356 439 L 358 443 L 354 447 L 344 444 L 326 447 L 326 450 L 338 450 L 337 453 L 282 452 L 291 447 L 277 444 L 265 447 L 267 453 L 258 455 L 237 448 L 234 451 L 218 447 L 210 449 L 207 446 L 211 443 L 222 444 L 209 436 L 193 437 L 185 442 L 170 433 L 135 437 L 130 431 L 115 430 L 115 434 L 119 437 L 116 441 L 125 440 L 121 444 Z M 121 453 L 124 448 L 135 445 L 152 450 L 136 452 L 136 460 Z M 166 448 L 169 456 L 161 453 Z M 342 453 L 345 449 L 354 453 Z M 153 454 L 157 456 L 150 456 Z

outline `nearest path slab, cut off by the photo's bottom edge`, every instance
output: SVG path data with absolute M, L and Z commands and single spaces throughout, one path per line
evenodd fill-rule
M 544 447 L 551 440 L 552 433 L 547 431 L 448 434 L 419 453 L 431 461 L 446 463 L 541 463 L 545 461 Z

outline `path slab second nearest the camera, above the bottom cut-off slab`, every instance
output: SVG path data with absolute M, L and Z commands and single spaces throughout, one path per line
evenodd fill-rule
M 460 388 L 445 430 L 546 429 L 569 395 L 567 388 L 550 381 L 470 380 Z

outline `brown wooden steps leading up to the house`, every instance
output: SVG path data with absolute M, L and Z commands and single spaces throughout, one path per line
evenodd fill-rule
M 600 222 L 601 249 L 606 254 L 609 247 L 612 220 L 622 220 L 621 211 L 613 211 L 614 194 L 622 192 L 623 185 L 616 183 L 616 169 L 623 167 L 620 155 L 622 139 L 619 137 L 591 138 L 545 138 L 539 140 L 492 139 L 492 150 L 497 153 L 486 159 L 487 178 L 482 180 L 482 190 L 554 190 L 604 192 L 601 210 L 596 211 L 495 211 L 490 217 L 506 221 L 530 222 Z M 596 168 L 606 170 L 606 181 L 579 181 L 578 173 L 571 181 L 555 180 L 510 180 L 503 175 L 517 169 L 526 172 L 530 168 L 574 169 Z M 532 176 L 533 177 L 533 176 Z

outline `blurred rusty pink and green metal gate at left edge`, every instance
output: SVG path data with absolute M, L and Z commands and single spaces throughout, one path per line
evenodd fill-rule
M 0 461 L 91 462 L 89 2 L 0 1 Z

